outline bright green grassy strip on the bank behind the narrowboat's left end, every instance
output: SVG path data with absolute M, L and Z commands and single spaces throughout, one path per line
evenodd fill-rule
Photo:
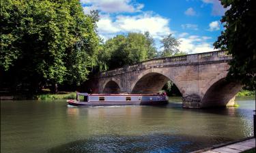
M 75 99 L 76 98 L 76 92 L 70 92 L 70 93 L 66 93 L 66 94 L 37 95 L 36 98 L 38 100 Z

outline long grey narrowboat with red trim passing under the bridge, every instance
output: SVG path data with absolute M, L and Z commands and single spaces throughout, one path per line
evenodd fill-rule
M 83 97 L 83 101 L 80 98 Z M 108 106 L 108 105 L 161 105 L 168 103 L 166 94 L 155 95 L 105 95 L 76 92 L 75 100 L 67 100 L 73 106 Z

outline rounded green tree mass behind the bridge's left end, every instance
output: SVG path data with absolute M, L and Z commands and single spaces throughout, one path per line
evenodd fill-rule
M 132 65 L 156 57 L 150 33 L 128 33 L 107 40 L 98 54 L 100 71 Z

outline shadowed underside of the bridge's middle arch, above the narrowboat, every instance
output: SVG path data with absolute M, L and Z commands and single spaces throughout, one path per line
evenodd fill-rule
M 150 72 L 143 75 L 137 82 L 134 84 L 132 88 L 132 94 L 152 94 L 157 93 L 159 90 L 162 90 L 162 87 L 165 84 L 171 81 L 166 75 L 157 72 Z M 175 82 L 173 82 L 175 84 Z M 175 84 L 176 85 L 176 84 Z M 180 90 L 180 88 L 177 86 Z

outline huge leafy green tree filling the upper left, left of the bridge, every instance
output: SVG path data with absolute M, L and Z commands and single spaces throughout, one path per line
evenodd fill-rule
M 76 0 L 1 0 L 4 81 L 32 91 L 45 82 L 83 82 L 95 64 L 95 22 Z

